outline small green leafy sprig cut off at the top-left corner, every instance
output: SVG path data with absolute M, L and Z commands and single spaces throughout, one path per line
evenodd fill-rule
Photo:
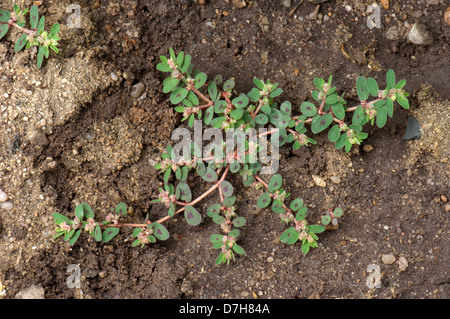
M 0 10 L 0 39 L 8 33 L 8 30 L 11 27 L 15 27 L 22 31 L 23 34 L 14 44 L 14 51 L 19 52 L 24 47 L 29 49 L 33 46 L 37 46 L 37 66 L 40 68 L 44 57 L 49 57 L 50 50 L 53 50 L 55 53 L 59 52 L 58 41 L 60 40 L 60 37 L 58 36 L 58 32 L 60 26 L 58 23 L 55 23 L 52 25 L 49 32 L 45 31 L 45 17 L 41 16 L 39 18 L 38 7 L 33 5 L 29 11 L 31 29 L 26 29 L 25 15 L 27 13 L 28 9 L 22 10 L 17 4 L 14 4 L 13 11 Z

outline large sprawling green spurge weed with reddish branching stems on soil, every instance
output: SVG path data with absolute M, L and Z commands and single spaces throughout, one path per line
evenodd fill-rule
M 332 86 L 332 76 L 328 81 L 316 78 L 314 84 L 317 90 L 311 93 L 312 101 L 301 103 L 297 109 L 297 114 L 300 114 L 294 115 L 295 109 L 289 101 L 275 101 L 283 91 L 277 83 L 271 83 L 270 80 L 254 78 L 255 87 L 250 92 L 236 93 L 233 79 L 224 81 L 218 75 L 208 81 L 205 73 L 194 70 L 190 55 L 183 52 L 175 54 L 170 48 L 169 56 L 161 56 L 160 59 L 156 68 L 168 73 L 163 81 L 163 92 L 170 94 L 170 102 L 175 111 L 182 115 L 181 120 L 187 121 L 189 127 L 194 127 L 195 121 L 201 121 L 207 127 L 218 129 L 222 133 L 242 129 L 250 135 L 256 129 L 265 129 L 262 133 L 261 130 L 256 133 L 258 138 L 270 135 L 272 145 L 281 147 L 290 144 L 293 151 L 316 144 L 311 133 L 319 134 L 328 130 L 328 139 L 334 143 L 335 148 L 344 148 L 349 152 L 353 145 L 360 145 L 367 138 L 367 133 L 363 132 L 365 124 L 376 123 L 380 128 L 386 124 L 388 117 L 393 116 L 395 101 L 403 108 L 409 108 L 408 93 L 403 90 L 406 81 L 396 83 L 393 70 L 386 74 L 387 85 L 384 89 L 380 89 L 373 78 L 359 77 L 356 89 L 360 101 L 352 107 L 347 107 L 343 95 L 338 95 L 336 87 Z M 348 116 L 349 113 L 353 114 Z M 308 132 L 308 126 L 311 133 Z M 161 154 L 162 160 L 155 165 L 155 169 L 163 175 L 164 184 L 159 188 L 158 197 L 152 200 L 152 203 L 165 206 L 167 215 L 153 223 L 146 220 L 144 224 L 124 224 L 116 220 L 116 223 L 100 223 L 98 226 L 117 229 L 123 226 L 134 227 L 133 236 L 136 239 L 133 246 L 166 240 L 169 233 L 162 226 L 164 221 L 183 213 L 188 225 L 199 225 L 203 215 L 195 205 L 217 191 L 218 200 L 207 209 L 206 215 L 220 227 L 221 233 L 213 233 L 209 238 L 212 247 L 219 250 L 216 264 L 228 264 L 235 260 L 236 255 L 246 254 L 243 247 L 237 244 L 241 235 L 239 228 L 246 224 L 246 219 L 239 216 L 233 185 L 226 180 L 230 174 L 236 174 L 242 178 L 244 186 L 259 190 L 260 196 L 256 200 L 258 208 L 270 207 L 281 222 L 287 225 L 287 229 L 280 235 L 282 243 L 300 243 L 305 255 L 311 248 L 317 247 L 318 234 L 324 232 L 328 224 L 337 223 L 336 218 L 343 214 L 342 208 L 329 210 L 321 219 L 322 225 L 310 224 L 303 199 L 290 198 L 291 194 L 283 188 L 280 174 L 272 174 L 268 181 L 262 178 L 262 163 L 255 154 L 264 150 L 264 145 L 260 145 L 258 141 L 245 140 L 237 150 L 233 148 L 230 151 L 225 144 L 219 143 L 214 151 L 205 156 L 199 145 L 191 142 L 183 149 L 183 153 L 184 150 L 189 151 L 186 152 L 188 156 L 184 154 L 181 158 L 177 157 L 171 145 L 167 145 L 166 151 Z M 211 184 L 197 198 L 193 198 L 187 183 L 190 174 L 196 174 Z M 59 218 L 61 220 L 63 219 Z M 70 224 L 64 225 L 66 231 L 69 231 L 68 226 Z M 70 237 L 67 232 L 64 234 L 67 238 Z M 97 239 L 100 239 L 99 231 Z

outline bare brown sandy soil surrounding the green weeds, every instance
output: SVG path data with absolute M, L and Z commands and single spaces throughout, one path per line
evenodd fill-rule
M 448 2 L 391 1 L 372 29 L 366 11 L 374 1 L 363 0 L 325 1 L 312 19 L 311 1 L 289 16 L 296 1 L 81 0 L 80 28 L 70 28 L 72 2 L 39 7 L 62 36 L 60 53 L 42 69 L 35 52 L 14 53 L 17 31 L 0 41 L 0 189 L 13 204 L 0 209 L 0 298 L 23 296 L 32 285 L 47 299 L 448 298 Z M 407 40 L 416 22 L 432 34 L 431 45 Z M 254 76 L 280 83 L 280 98 L 297 113 L 315 77 L 332 74 L 350 105 L 360 75 L 385 83 L 392 68 L 406 79 L 410 110 L 397 106 L 383 129 L 367 125 L 361 147 L 347 154 L 320 134 L 318 145 L 282 148 L 279 173 L 307 203 L 308 220 L 317 223 L 328 204 L 344 209 L 318 248 L 304 256 L 300 246 L 281 243 L 284 224 L 258 210 L 258 193 L 234 175 L 228 180 L 247 219 L 239 241 L 247 254 L 228 266 L 214 264 L 209 236 L 220 230 L 208 218 L 196 227 L 173 218 L 165 224 L 171 237 L 143 248 L 131 247 L 131 230 L 108 243 L 83 234 L 73 247 L 52 239 L 52 214 L 72 216 L 82 202 L 105 216 L 123 201 L 130 222 L 167 214 L 150 201 L 163 180 L 152 163 L 184 125 L 156 70 L 169 47 L 191 54 L 209 78 L 235 78 L 237 92 L 249 92 Z M 134 97 L 139 82 L 145 91 Z M 405 141 L 410 115 L 422 137 Z M 194 196 L 207 189 L 199 178 L 189 182 Z M 213 202 L 214 195 L 199 211 Z M 73 264 L 80 288 L 67 283 Z M 377 275 L 380 285 L 371 285 Z

